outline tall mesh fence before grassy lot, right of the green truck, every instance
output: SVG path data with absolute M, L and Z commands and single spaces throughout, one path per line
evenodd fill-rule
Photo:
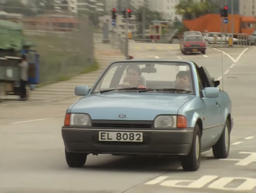
M 40 83 L 64 80 L 94 64 L 93 25 L 85 17 L 8 8 L 0 11 L 0 19 L 21 23 L 24 38 L 35 43 L 31 49 L 40 55 Z

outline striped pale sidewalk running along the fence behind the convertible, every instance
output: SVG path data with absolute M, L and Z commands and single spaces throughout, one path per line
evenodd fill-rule
M 27 101 L 18 101 L 18 96 L 7 96 L 8 99 L 0 103 L 0 108 L 12 106 L 26 106 L 32 104 L 42 104 L 49 102 L 58 102 L 75 96 L 75 86 L 87 85 L 93 86 L 96 79 L 105 70 L 105 68 L 116 60 L 125 60 L 125 56 L 118 49 L 111 47 L 111 44 L 104 44 L 99 39 L 94 42 L 95 59 L 100 68 L 97 71 L 87 74 L 80 74 L 68 81 L 61 81 L 54 84 L 49 84 L 41 88 L 36 88 L 30 91 L 30 96 Z

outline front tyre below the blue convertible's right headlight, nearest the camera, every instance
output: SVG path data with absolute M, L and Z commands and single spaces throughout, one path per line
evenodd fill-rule
M 201 163 L 201 132 L 198 125 L 195 126 L 193 143 L 188 155 L 180 157 L 184 171 L 197 171 Z

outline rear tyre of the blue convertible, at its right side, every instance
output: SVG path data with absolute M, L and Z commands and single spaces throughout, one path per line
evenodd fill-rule
M 227 120 L 223 129 L 223 132 L 217 141 L 217 143 L 212 146 L 212 153 L 216 159 L 227 158 L 230 151 L 230 124 Z

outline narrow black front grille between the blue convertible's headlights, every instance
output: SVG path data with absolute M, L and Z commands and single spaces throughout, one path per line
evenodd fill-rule
M 93 120 L 94 128 L 152 128 L 153 121 L 109 121 Z

